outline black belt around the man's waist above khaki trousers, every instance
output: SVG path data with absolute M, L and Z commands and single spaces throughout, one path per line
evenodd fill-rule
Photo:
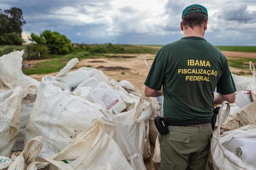
M 197 120 L 197 119 L 190 119 L 187 121 L 172 121 L 167 117 L 164 117 L 167 126 L 190 126 L 190 125 L 197 125 L 197 124 L 206 124 L 211 123 L 212 119 L 208 120 Z

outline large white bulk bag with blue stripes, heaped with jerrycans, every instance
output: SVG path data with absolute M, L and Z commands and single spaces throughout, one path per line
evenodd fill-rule
M 77 59 L 72 59 L 70 62 L 74 65 Z M 61 70 L 62 72 L 72 68 L 70 62 L 65 66 L 66 69 L 64 67 Z M 99 82 L 104 80 L 113 89 L 118 89 L 118 83 L 101 71 L 86 67 L 81 69 L 94 71 L 94 76 Z M 119 91 L 122 100 L 133 104 L 134 108 L 114 115 L 100 104 L 75 96 L 69 90 L 62 91 L 51 82 L 45 81 L 45 77 L 42 78 L 38 88 L 37 100 L 25 131 L 25 142 L 42 135 L 44 146 L 40 155 L 47 158 L 63 150 L 78 134 L 90 126 L 91 120 L 98 118 L 104 124 L 105 131 L 113 136 L 133 168 L 145 169 L 142 155 L 146 134 L 145 120 L 152 113 L 150 103 L 133 94 Z

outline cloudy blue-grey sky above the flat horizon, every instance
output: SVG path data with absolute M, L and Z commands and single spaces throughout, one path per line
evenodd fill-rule
M 49 29 L 78 43 L 167 44 L 182 37 L 181 14 L 191 4 L 208 9 L 212 44 L 256 45 L 256 0 L 0 0 L 0 9 L 23 10 L 24 39 Z

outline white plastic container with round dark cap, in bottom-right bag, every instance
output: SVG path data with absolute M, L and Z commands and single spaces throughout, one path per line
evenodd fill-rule
M 254 138 L 233 138 L 222 143 L 228 151 L 247 164 L 256 167 L 256 137 Z

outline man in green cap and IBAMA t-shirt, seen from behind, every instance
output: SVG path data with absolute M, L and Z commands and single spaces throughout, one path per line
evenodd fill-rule
M 161 96 L 162 90 L 164 94 L 169 133 L 158 135 L 161 169 L 205 169 L 214 104 L 235 102 L 227 59 L 203 38 L 207 24 L 204 6 L 185 8 L 180 22 L 183 38 L 158 51 L 144 83 L 145 96 Z M 219 94 L 214 96 L 216 87 Z

